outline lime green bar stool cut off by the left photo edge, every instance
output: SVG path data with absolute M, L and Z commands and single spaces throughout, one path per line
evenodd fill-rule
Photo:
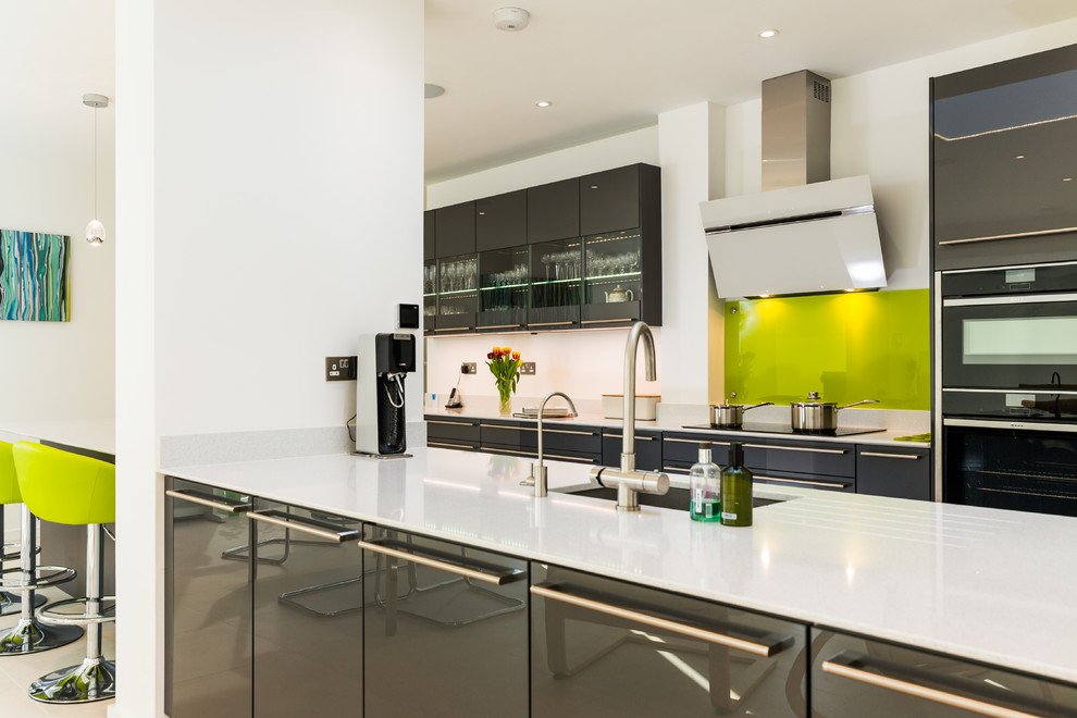
M 20 532 L 18 568 L 0 571 L 0 589 L 20 595 L 18 622 L 0 631 L 0 656 L 18 656 L 58 648 L 83 635 L 76 626 L 42 626 L 34 618 L 34 608 L 45 602 L 40 589 L 59 585 L 75 578 L 75 569 L 63 566 L 38 566 L 37 519 L 23 503 L 15 475 L 12 445 L 0 442 L 0 510 L 8 504 L 23 504 Z M 39 575 L 39 573 L 41 575 Z M 5 594 L 7 595 L 7 594 Z

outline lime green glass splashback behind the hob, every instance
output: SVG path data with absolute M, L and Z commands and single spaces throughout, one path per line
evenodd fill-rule
M 927 289 L 726 302 L 726 395 L 736 404 L 879 399 L 930 409 Z M 869 407 L 870 408 L 870 407 Z

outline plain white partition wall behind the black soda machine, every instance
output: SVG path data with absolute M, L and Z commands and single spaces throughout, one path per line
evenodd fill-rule
M 326 384 L 324 357 L 419 302 L 422 14 L 117 0 L 116 564 L 139 601 L 110 715 L 162 709 L 156 437 L 343 425 L 355 384 Z

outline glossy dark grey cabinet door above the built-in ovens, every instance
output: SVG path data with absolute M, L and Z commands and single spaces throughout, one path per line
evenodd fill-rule
M 931 81 L 937 270 L 1077 259 L 1077 45 Z

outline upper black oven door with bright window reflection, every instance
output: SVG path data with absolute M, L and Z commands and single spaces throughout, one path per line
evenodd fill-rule
M 1077 293 L 943 299 L 942 386 L 1077 391 Z

